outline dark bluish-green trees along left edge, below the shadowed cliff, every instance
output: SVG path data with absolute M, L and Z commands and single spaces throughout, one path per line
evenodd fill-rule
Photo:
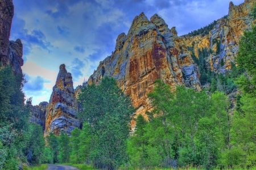
M 11 67 L 0 70 L 0 168 L 17 169 L 22 156 L 24 131 L 29 111 L 24 106 L 22 74 L 14 76 Z

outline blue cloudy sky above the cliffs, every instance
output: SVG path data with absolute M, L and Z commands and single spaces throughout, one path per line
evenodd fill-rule
M 32 104 L 49 101 L 61 64 L 74 88 L 112 54 L 135 16 L 158 14 L 178 36 L 228 14 L 229 0 L 13 0 L 10 40 L 23 43 L 23 92 Z M 244 0 L 233 0 L 240 5 Z

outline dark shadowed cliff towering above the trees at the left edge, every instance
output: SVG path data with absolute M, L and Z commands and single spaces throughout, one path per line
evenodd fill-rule
M 0 1 L 0 62 L 1 67 L 11 65 L 15 74 L 22 73 L 23 45 L 20 39 L 10 41 L 11 22 L 14 16 L 12 0 Z

